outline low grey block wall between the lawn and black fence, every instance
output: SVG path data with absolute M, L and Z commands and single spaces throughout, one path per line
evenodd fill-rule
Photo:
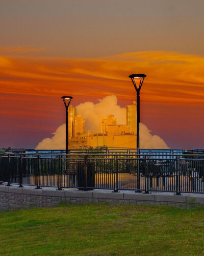
M 60 203 L 87 204 L 108 202 L 110 204 L 170 205 L 191 208 L 204 206 L 203 196 L 169 196 L 161 194 L 111 193 L 111 191 L 79 191 L 35 189 L 0 186 L 0 210 L 32 207 L 53 207 Z

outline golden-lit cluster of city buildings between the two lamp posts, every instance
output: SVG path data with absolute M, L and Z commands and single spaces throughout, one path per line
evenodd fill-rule
M 89 131 L 85 134 L 85 119 L 81 115 L 77 115 L 77 110 L 71 106 L 69 112 L 70 148 L 135 149 L 137 139 L 136 110 L 136 102 L 126 105 L 126 124 L 117 124 L 117 118 L 114 115 L 107 115 L 100 120 L 100 133 Z

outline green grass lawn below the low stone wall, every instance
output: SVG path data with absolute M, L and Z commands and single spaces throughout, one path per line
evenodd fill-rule
M 203 255 L 204 210 L 68 205 L 0 214 L 4 255 Z

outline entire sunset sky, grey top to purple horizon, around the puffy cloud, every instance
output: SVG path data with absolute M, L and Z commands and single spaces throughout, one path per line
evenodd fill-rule
M 202 0 L 1 0 L 0 147 L 52 137 L 63 95 L 124 108 L 128 76 L 144 73 L 141 122 L 170 148 L 204 148 L 203 11 Z

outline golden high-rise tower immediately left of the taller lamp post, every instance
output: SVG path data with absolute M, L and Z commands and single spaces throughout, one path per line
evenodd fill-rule
M 137 104 L 135 101 L 131 105 L 126 105 L 126 125 L 130 133 L 137 134 Z

